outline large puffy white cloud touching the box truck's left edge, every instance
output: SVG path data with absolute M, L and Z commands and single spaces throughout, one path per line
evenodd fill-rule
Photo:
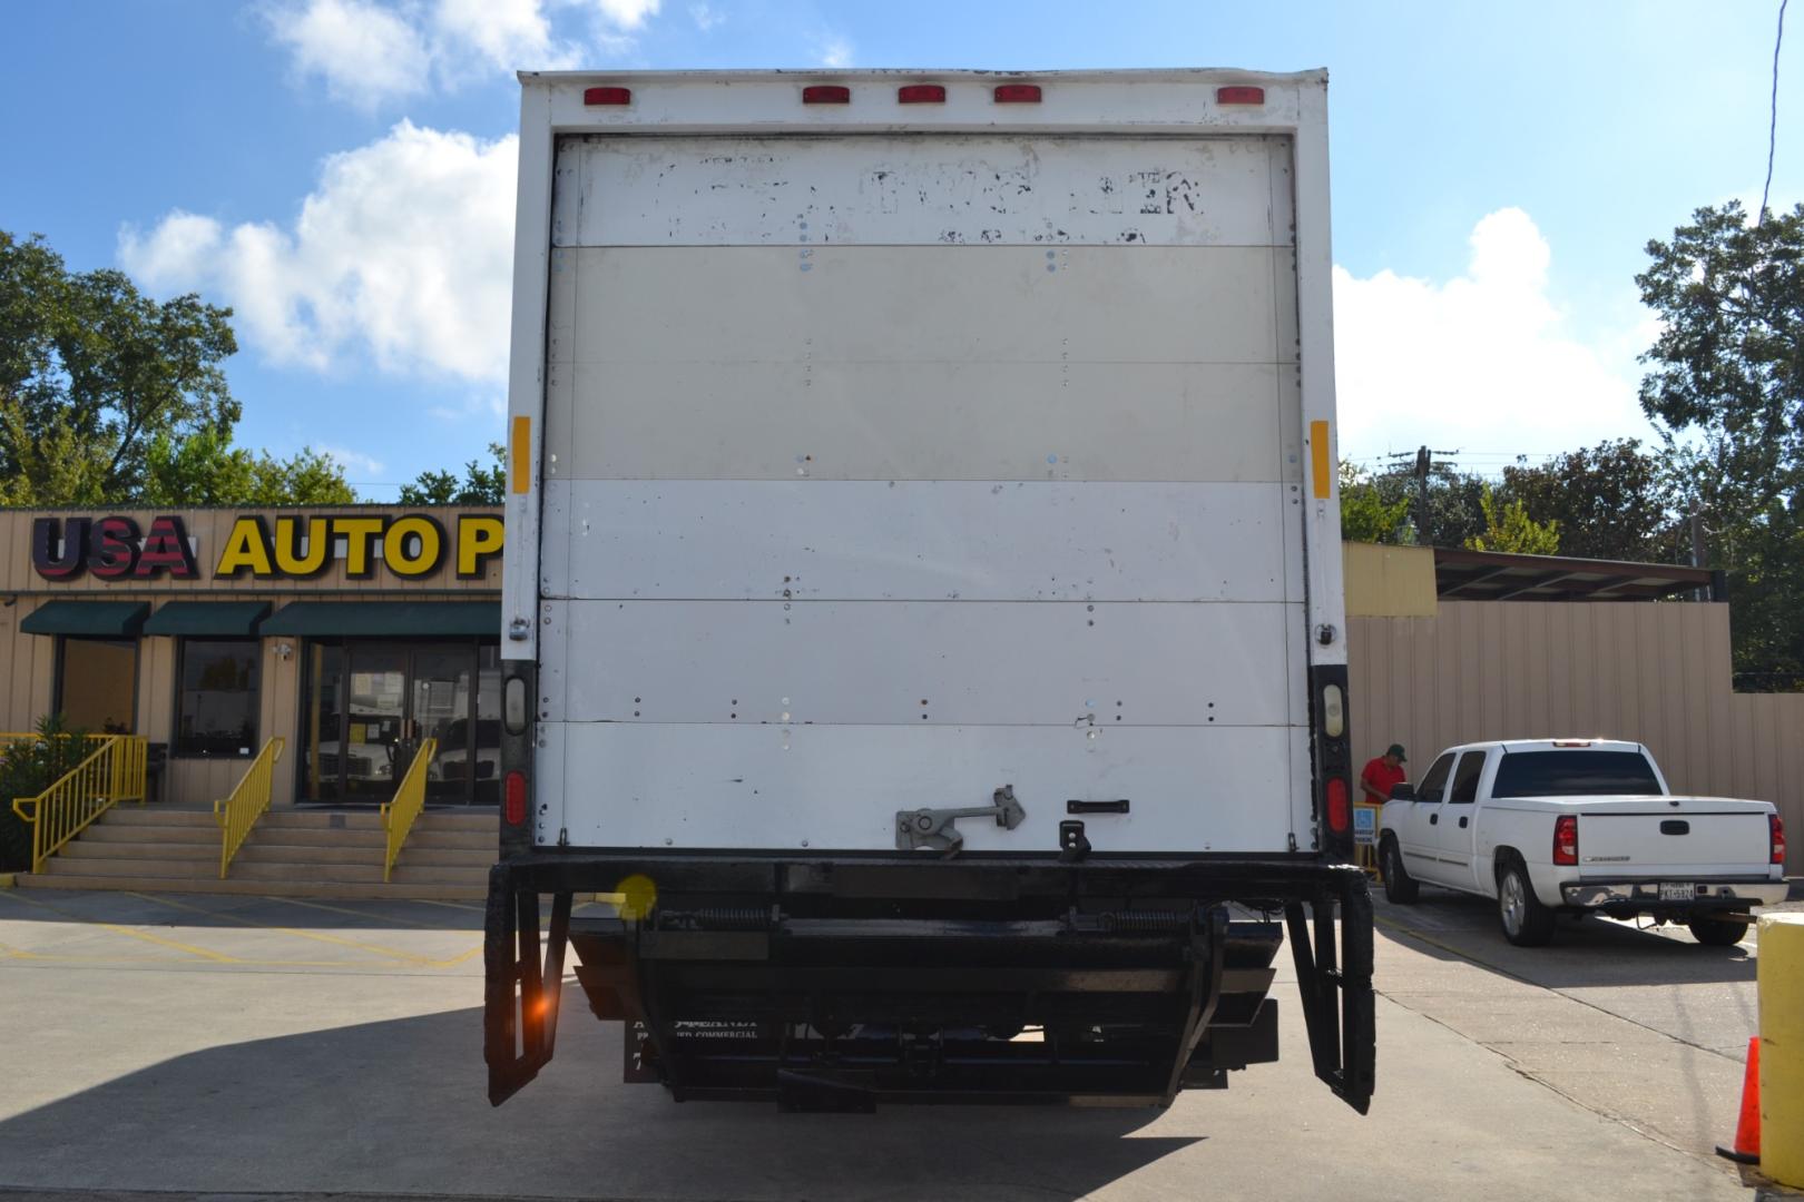
M 512 135 L 402 121 L 328 157 L 292 227 L 175 211 L 123 229 L 119 261 L 152 290 L 224 299 L 276 362 L 364 353 L 393 375 L 492 384 L 507 373 L 516 160 Z

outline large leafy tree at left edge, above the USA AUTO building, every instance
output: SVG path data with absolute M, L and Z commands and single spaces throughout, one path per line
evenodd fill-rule
M 124 272 L 70 272 L 0 231 L 0 503 L 132 499 L 159 438 L 227 436 L 231 310 L 143 296 Z

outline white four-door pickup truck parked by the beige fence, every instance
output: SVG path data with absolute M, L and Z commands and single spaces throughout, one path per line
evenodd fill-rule
M 1497 899 L 1505 937 L 1539 946 L 1555 914 L 1652 915 L 1732 946 L 1750 910 L 1786 899 L 1786 833 L 1770 802 L 1672 797 L 1647 748 L 1530 739 L 1450 748 L 1380 815 L 1384 894 L 1422 883 Z

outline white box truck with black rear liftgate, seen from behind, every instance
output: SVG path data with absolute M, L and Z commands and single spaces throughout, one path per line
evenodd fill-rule
M 491 1099 L 1364 1112 L 1326 74 L 521 83 Z

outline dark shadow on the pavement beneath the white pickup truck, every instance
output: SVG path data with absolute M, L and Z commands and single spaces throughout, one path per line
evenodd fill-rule
M 1707 948 L 1598 917 L 1560 917 L 1553 942 L 1517 948 L 1497 930 L 1492 901 L 1434 888 L 1423 888 L 1413 906 L 1380 899 L 1375 908 L 1382 937 L 1407 939 L 1436 959 L 1470 961 L 1550 989 L 1752 982 L 1757 964 L 1748 946 Z

